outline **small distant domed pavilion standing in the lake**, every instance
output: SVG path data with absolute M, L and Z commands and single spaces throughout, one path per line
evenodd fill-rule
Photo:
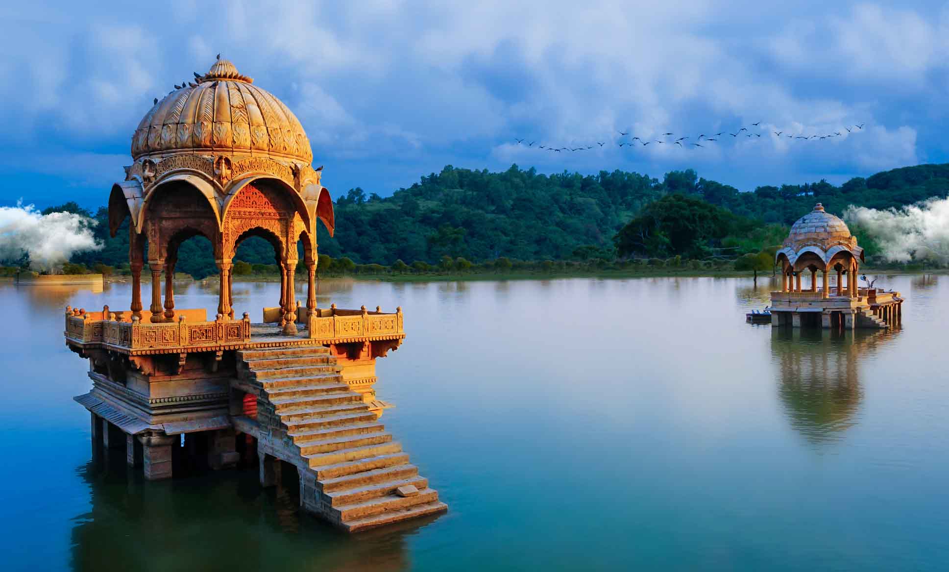
M 847 223 L 818 202 L 794 222 L 775 254 L 781 267 L 781 291 L 772 292 L 772 325 L 853 329 L 899 323 L 902 296 L 869 285 L 861 288 L 858 276 L 863 261 L 864 249 Z

